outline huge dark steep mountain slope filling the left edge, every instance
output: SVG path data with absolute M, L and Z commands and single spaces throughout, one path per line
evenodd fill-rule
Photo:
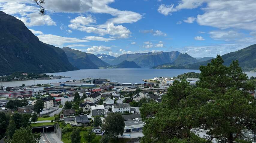
M 22 21 L 2 11 L 0 51 L 0 75 L 78 70 L 68 62 L 62 49 L 40 42 Z

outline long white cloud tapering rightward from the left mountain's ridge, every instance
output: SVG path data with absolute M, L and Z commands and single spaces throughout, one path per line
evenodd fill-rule
M 84 39 L 62 37 L 62 36 L 52 35 L 52 34 L 43 34 L 43 32 L 41 31 L 35 31 L 33 29 L 30 29 L 30 30 L 34 34 L 37 34 L 36 36 L 39 38 L 40 41 L 42 41 L 43 43 L 54 45 L 54 46 L 63 46 L 64 43 L 89 42 L 88 40 L 84 40 Z

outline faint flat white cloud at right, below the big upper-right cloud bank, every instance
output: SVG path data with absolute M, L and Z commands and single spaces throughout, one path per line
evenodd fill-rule
M 238 33 L 237 31 L 211 31 L 209 32 L 210 37 L 215 39 L 215 40 L 234 40 L 237 38 L 240 38 L 243 36 L 243 34 Z

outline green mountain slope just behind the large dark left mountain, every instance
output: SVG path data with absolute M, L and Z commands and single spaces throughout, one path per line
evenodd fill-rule
M 62 48 L 66 53 L 69 62 L 78 69 L 98 69 L 98 66 L 94 64 L 87 53 L 79 50 L 74 50 L 69 47 Z

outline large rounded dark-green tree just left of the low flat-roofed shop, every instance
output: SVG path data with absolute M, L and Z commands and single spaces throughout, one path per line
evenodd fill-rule
M 124 133 L 124 118 L 120 113 L 110 113 L 105 118 L 105 124 L 103 124 L 102 129 L 105 130 L 105 134 L 111 138 L 118 140 L 118 135 L 121 136 Z

